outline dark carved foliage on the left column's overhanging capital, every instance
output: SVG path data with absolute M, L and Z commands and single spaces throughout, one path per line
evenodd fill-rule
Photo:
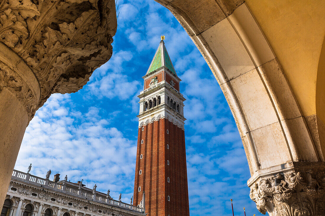
M 24 104 L 30 118 L 50 94 L 78 91 L 110 59 L 116 27 L 113 0 L 0 0 L 0 42 L 31 67 L 40 84 L 40 101 Z M 23 91 L 23 100 L 38 98 Z

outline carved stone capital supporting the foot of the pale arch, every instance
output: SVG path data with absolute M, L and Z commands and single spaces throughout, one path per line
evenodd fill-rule
M 324 164 L 294 164 L 292 170 L 259 178 L 250 186 L 250 198 L 271 216 L 325 215 Z

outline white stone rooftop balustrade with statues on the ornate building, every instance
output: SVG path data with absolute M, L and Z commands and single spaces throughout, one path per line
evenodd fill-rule
M 115 206 L 118 208 L 126 209 L 126 210 L 133 210 L 136 212 L 141 212 L 145 214 L 145 210 L 143 208 L 139 208 L 137 206 L 133 206 L 127 203 L 123 203 L 121 201 L 117 201 L 114 199 L 111 199 L 108 196 L 105 196 L 104 193 L 100 193 L 98 191 L 95 191 L 95 193 L 92 193 L 87 191 L 91 190 L 89 188 L 82 187 L 81 189 L 76 189 L 70 186 L 67 186 L 65 184 L 60 184 L 58 182 L 53 182 L 48 179 L 40 178 L 35 175 L 27 174 L 20 172 L 18 170 L 14 170 L 12 172 L 11 179 L 13 180 L 19 180 L 23 181 L 25 183 L 34 185 L 34 186 L 42 186 L 44 188 L 54 190 L 57 192 L 69 194 L 78 198 L 85 198 L 87 200 L 92 200 L 94 202 L 102 203 L 102 204 L 107 204 L 110 206 Z

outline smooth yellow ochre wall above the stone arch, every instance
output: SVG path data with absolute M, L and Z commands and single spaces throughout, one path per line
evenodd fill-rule
M 246 4 L 283 67 L 303 115 L 317 111 L 325 123 L 325 54 L 319 62 L 325 1 L 246 0 Z

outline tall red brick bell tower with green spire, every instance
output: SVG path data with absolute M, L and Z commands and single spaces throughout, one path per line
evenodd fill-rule
M 180 78 L 164 37 L 144 77 L 140 98 L 133 205 L 148 216 L 189 215 L 183 102 Z

